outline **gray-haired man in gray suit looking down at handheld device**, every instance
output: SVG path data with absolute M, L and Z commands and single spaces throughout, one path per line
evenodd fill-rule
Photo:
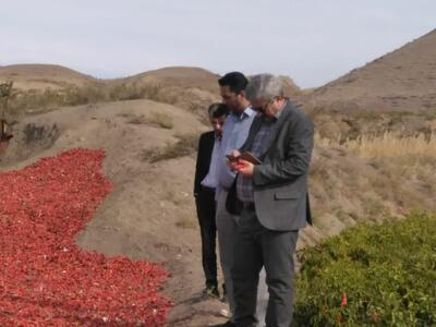
M 234 323 L 253 327 L 258 274 L 266 269 L 269 300 L 267 327 L 289 327 L 292 320 L 293 254 L 299 230 L 311 222 L 307 174 L 313 150 L 313 123 L 283 97 L 279 77 L 252 77 L 246 97 L 256 117 L 239 152 L 251 152 L 262 164 L 229 161 L 242 208 L 232 269 Z M 229 198 L 228 201 L 231 201 Z

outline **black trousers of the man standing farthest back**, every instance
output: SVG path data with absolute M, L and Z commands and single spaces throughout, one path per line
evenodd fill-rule
M 217 227 L 215 225 L 215 190 L 202 187 L 195 197 L 199 231 L 202 235 L 202 262 L 206 287 L 218 286 L 217 281 Z

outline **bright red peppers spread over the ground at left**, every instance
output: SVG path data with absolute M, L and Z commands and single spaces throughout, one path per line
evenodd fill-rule
M 72 149 L 0 173 L 0 326 L 162 326 L 157 264 L 75 244 L 112 185 L 102 150 Z

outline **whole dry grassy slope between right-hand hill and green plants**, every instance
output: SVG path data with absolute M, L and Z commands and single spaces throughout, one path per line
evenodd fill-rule
M 310 190 L 315 226 L 327 234 L 353 221 L 436 210 L 436 134 L 367 135 L 315 137 Z

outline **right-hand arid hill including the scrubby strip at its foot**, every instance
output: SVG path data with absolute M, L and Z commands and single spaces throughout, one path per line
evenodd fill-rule
M 300 95 L 318 132 L 344 141 L 436 130 L 436 31 Z

